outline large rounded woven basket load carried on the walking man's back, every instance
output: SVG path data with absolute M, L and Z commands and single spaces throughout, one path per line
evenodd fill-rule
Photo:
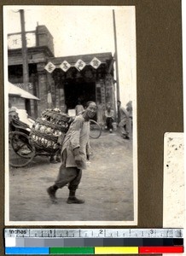
M 71 120 L 71 117 L 62 113 L 59 108 L 46 109 L 32 126 L 30 132 L 32 145 L 39 150 L 55 154 L 61 148 L 58 138 L 65 137 Z

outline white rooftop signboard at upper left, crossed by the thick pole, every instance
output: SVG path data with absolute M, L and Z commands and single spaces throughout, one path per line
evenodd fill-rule
M 36 46 L 36 34 L 35 32 L 26 32 L 26 46 Z M 8 35 L 8 49 L 20 49 L 22 48 L 21 33 Z

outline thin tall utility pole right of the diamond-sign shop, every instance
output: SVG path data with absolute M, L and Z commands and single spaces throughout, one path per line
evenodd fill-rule
M 116 24 L 115 24 L 115 12 L 113 9 L 113 34 L 114 34 L 114 45 L 115 45 L 115 64 L 116 64 L 116 99 L 120 101 L 119 95 L 119 64 L 118 64 L 118 48 L 117 48 L 117 36 L 116 36 Z M 119 109 L 118 109 L 118 122 L 120 120 Z

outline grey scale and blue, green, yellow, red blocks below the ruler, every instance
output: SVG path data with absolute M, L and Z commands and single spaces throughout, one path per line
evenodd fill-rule
M 6 254 L 183 253 L 183 238 L 16 238 L 5 239 Z

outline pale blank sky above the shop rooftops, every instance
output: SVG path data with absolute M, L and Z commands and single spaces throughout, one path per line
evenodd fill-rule
M 26 31 L 45 25 L 54 38 L 55 57 L 102 52 L 114 54 L 115 10 L 119 58 L 120 100 L 125 106 L 136 98 L 135 8 L 129 6 L 6 6 L 4 33 L 20 32 L 20 13 L 25 9 Z

